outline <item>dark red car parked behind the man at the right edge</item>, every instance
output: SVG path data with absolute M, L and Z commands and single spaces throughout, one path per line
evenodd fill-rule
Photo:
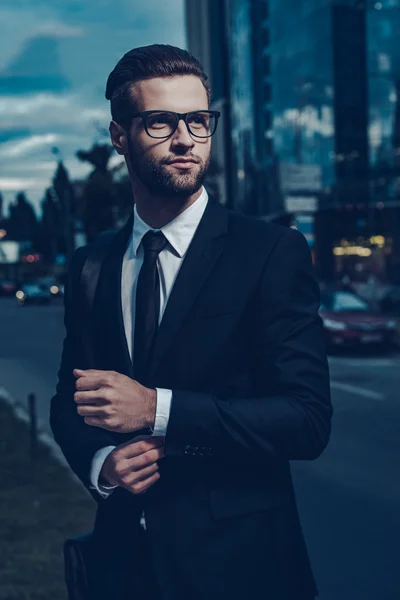
M 350 290 L 323 290 L 320 315 L 329 348 L 395 343 L 396 320 L 379 313 Z

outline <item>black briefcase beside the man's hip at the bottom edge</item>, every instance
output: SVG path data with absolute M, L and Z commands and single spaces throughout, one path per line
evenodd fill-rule
M 68 600 L 92 600 L 90 566 L 93 561 L 92 533 L 64 542 L 64 569 Z

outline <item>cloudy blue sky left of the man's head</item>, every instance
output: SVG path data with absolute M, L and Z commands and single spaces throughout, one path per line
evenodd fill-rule
M 0 191 L 26 191 L 37 209 L 57 146 L 73 178 L 74 156 L 107 141 L 107 76 L 136 46 L 186 47 L 184 0 L 2 0 L 0 5 Z M 119 161 L 115 155 L 113 161 Z

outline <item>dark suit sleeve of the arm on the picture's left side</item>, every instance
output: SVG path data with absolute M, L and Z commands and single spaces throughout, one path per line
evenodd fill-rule
M 56 394 L 51 400 L 50 426 L 71 469 L 89 489 L 92 459 L 106 446 L 115 446 L 112 435 L 97 427 L 86 425 L 78 415 L 74 401 L 75 377 L 73 369 L 86 368 L 79 336 L 79 306 L 76 302 L 79 277 L 85 258 L 85 248 L 73 255 L 64 294 L 64 338 L 61 365 L 58 371 Z M 91 492 L 92 493 L 92 492 Z M 92 493 L 96 500 L 98 494 Z

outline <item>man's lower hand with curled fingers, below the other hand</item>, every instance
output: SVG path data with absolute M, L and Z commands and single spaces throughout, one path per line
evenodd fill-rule
M 107 456 L 99 482 L 143 494 L 160 479 L 157 461 L 163 456 L 164 437 L 122 444 Z

